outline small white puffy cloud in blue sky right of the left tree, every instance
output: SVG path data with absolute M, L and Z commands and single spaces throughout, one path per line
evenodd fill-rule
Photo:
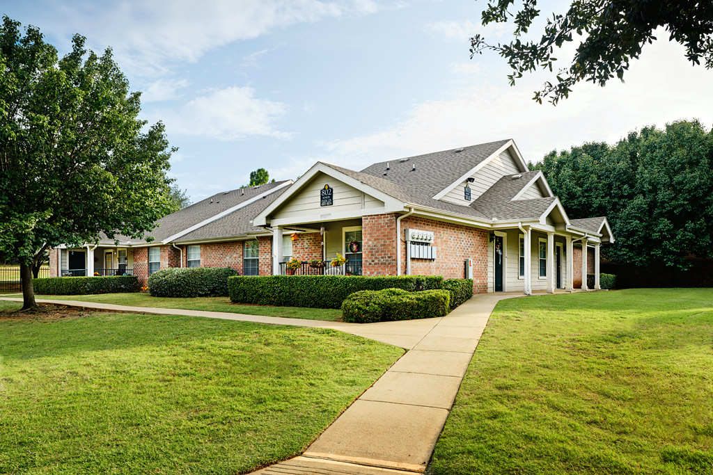
M 239 140 L 249 136 L 289 139 L 292 134 L 275 129 L 275 121 L 287 112 L 283 103 L 255 97 L 255 89 L 245 86 L 207 91 L 180 106 L 179 110 L 158 111 L 166 131 L 200 135 L 217 140 Z

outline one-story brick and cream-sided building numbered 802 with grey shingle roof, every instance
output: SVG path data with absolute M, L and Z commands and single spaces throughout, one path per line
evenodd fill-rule
M 229 266 L 255 276 L 468 277 L 481 293 L 571 291 L 587 288 L 588 273 L 599 288 L 600 245 L 614 241 L 604 216 L 569 219 L 513 140 L 361 172 L 317 162 L 295 182 L 215 194 L 165 216 L 149 236 L 53 249 L 51 275 L 133 274 L 145 285 L 161 268 Z M 337 254 L 347 261 L 332 266 Z M 292 259 L 301 263 L 287 266 Z

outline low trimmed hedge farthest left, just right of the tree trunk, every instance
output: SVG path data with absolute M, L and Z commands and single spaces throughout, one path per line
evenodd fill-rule
M 135 276 L 48 277 L 34 279 L 33 286 L 36 294 L 47 296 L 127 293 L 138 292 L 138 278 Z

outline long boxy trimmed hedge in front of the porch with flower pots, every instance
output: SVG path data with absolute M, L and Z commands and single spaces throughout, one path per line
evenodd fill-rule
M 442 286 L 443 276 L 240 276 L 228 278 L 228 294 L 233 302 L 309 308 L 341 308 L 344 299 L 358 291 L 400 288 L 407 292 L 415 292 L 439 289 Z M 153 294 L 153 288 L 151 288 L 151 293 Z

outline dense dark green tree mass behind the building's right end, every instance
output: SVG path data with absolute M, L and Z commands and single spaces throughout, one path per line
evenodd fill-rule
M 691 255 L 713 258 L 713 132 L 696 120 L 550 152 L 530 168 L 543 170 L 571 219 L 607 216 L 609 259 L 686 269 Z

